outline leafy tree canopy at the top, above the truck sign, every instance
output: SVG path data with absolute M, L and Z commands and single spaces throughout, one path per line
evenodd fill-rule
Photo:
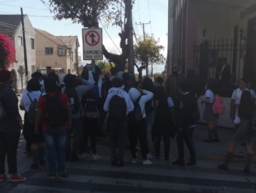
M 122 26 L 121 0 L 41 0 L 49 3 L 54 19 L 71 19 L 73 23 L 82 23 L 87 28 L 97 28 L 98 20 L 104 18 L 107 23 Z

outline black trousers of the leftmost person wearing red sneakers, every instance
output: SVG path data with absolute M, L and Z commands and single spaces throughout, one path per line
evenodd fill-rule
M 17 148 L 19 132 L 0 132 L 0 174 L 4 174 L 7 155 L 9 174 L 17 174 Z

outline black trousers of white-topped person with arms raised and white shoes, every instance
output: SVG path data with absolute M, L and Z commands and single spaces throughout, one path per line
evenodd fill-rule
M 147 159 L 147 120 L 144 118 L 139 123 L 129 125 L 129 135 L 131 141 L 131 156 L 136 159 L 136 145 L 140 141 L 140 148 L 143 154 L 143 159 Z

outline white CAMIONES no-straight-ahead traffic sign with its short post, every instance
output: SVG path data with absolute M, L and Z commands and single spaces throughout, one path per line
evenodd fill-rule
M 84 28 L 83 37 L 83 59 L 91 60 L 92 72 L 95 72 L 95 60 L 103 59 L 102 28 Z

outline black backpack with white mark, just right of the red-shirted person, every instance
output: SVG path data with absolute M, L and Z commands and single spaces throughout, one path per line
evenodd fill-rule
M 80 111 L 80 101 L 77 96 L 77 92 L 75 88 L 66 88 L 64 94 L 68 96 L 69 103 L 71 106 L 72 114 L 76 114 Z

